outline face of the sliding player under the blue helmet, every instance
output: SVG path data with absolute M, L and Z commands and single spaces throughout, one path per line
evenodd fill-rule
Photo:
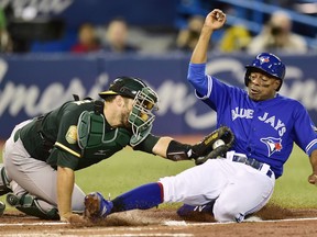
M 248 92 L 254 101 L 264 101 L 275 97 L 281 81 L 261 72 L 251 72 L 249 76 Z

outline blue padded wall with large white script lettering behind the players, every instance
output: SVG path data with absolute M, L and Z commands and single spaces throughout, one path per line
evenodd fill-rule
M 211 56 L 209 57 L 211 58 Z M 233 86 L 244 87 L 247 55 L 212 55 L 207 72 Z M 317 124 L 317 55 L 282 56 L 287 65 L 281 93 L 298 99 Z M 72 56 L 24 55 L 0 58 L 0 138 L 17 123 L 45 113 L 76 93 L 98 98 L 118 76 L 140 77 L 160 95 L 154 122 L 156 134 L 197 134 L 215 128 L 215 112 L 194 95 L 187 82 L 189 55 Z

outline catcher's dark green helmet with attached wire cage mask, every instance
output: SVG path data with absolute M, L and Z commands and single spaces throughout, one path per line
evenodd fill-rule
M 110 84 L 108 91 L 99 93 L 102 99 L 111 94 L 133 99 L 132 111 L 128 119 L 132 125 L 133 136 L 139 140 L 140 136 L 147 135 L 155 119 L 152 110 L 158 109 L 157 94 L 141 79 L 133 77 L 119 77 Z

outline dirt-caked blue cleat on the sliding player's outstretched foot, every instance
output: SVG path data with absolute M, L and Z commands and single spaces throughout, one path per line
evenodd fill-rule
M 111 201 L 107 201 L 99 192 L 92 192 L 85 196 L 85 216 L 90 219 L 105 218 L 113 207 Z

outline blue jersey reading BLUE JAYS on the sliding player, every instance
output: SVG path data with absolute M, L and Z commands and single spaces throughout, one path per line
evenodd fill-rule
M 234 133 L 232 150 L 270 165 L 278 178 L 294 142 L 308 156 L 317 149 L 313 121 L 298 101 L 280 94 L 253 101 L 245 90 L 205 75 L 205 64 L 190 64 L 188 80 L 197 97 L 217 112 L 217 126 L 229 126 Z

